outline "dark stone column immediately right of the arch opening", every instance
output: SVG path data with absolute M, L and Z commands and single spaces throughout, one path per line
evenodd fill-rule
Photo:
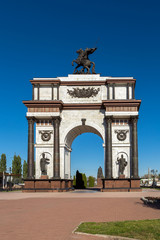
M 106 117 L 105 178 L 112 178 L 112 116 Z

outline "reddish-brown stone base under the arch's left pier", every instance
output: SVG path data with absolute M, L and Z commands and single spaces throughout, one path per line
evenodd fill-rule
M 70 179 L 25 179 L 23 192 L 67 192 L 73 190 Z

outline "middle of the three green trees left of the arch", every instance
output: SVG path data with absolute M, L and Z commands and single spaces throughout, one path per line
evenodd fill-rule
M 21 175 L 22 173 L 22 164 L 21 164 L 21 157 L 18 155 L 14 155 L 13 161 L 12 161 L 12 173 L 15 175 Z M 20 176 L 14 177 L 14 182 L 18 182 L 20 180 Z

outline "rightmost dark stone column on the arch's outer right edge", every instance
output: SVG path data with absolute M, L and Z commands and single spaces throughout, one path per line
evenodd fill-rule
M 131 176 L 139 178 L 138 176 L 138 141 L 137 141 L 137 120 L 138 116 L 131 117 L 132 124 L 132 169 Z

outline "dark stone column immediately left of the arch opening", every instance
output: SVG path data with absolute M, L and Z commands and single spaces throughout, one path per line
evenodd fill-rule
M 60 117 L 53 117 L 54 124 L 54 154 L 53 154 L 53 163 L 54 163 L 54 171 L 53 178 L 60 178 L 60 146 L 59 146 L 59 125 L 60 125 Z

